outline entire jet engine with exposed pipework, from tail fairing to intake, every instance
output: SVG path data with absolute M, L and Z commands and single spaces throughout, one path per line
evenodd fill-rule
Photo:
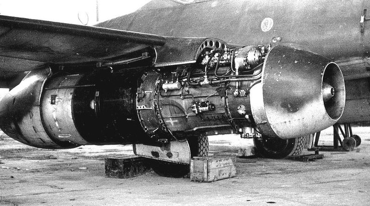
M 207 39 L 196 61 L 31 71 L 0 103 L 0 128 L 40 148 L 158 145 L 232 129 L 289 139 L 342 115 L 339 67 L 290 46 Z

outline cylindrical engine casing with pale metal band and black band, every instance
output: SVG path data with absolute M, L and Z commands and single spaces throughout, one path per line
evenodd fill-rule
M 79 145 L 142 142 L 136 114 L 137 79 L 136 72 L 54 75 L 42 94 L 48 134 Z

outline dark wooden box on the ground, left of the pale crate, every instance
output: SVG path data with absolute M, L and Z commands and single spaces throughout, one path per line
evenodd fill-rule
M 150 170 L 147 159 L 138 156 L 105 158 L 106 177 L 130 178 Z

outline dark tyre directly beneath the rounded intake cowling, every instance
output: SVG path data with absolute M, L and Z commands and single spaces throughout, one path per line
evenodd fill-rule
M 288 140 L 262 137 L 262 139 L 254 138 L 253 142 L 257 155 L 264 158 L 282 159 L 288 156 L 300 155 L 306 139 L 306 136 Z

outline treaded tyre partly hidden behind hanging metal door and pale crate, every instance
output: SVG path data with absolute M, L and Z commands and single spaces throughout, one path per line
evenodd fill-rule
M 192 136 L 188 139 L 190 153 L 192 157 L 208 156 L 209 144 L 207 135 Z M 190 165 L 176 164 L 172 162 L 152 160 L 151 167 L 155 173 L 164 177 L 188 177 Z

